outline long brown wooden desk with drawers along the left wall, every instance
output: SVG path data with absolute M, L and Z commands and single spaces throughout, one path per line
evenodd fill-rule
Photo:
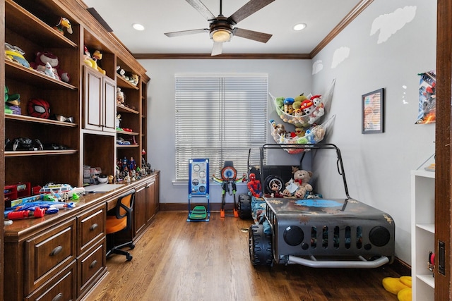
M 81 300 L 107 273 L 105 219 L 117 198 L 127 190 L 152 187 L 152 199 L 158 204 L 159 173 L 121 188 L 88 193 L 73 209 L 39 219 L 13 221 L 4 227 L 4 296 L 8 300 Z M 144 190 L 147 191 L 147 190 Z M 150 190 L 149 190 L 150 191 Z M 137 221 L 148 218 L 149 197 L 136 195 L 133 215 L 133 240 L 149 226 Z M 145 216 L 143 218 L 143 216 Z M 137 228 L 137 225 L 139 228 Z

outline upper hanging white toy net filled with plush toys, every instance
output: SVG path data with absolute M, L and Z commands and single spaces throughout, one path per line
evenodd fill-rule
M 292 99 L 295 102 L 291 104 L 293 105 L 293 111 L 291 110 L 285 110 L 285 100 L 284 97 L 274 97 L 272 94 L 268 93 L 272 99 L 272 102 L 275 106 L 276 112 L 280 116 L 280 118 L 287 123 L 291 123 L 295 125 L 298 128 L 309 128 L 311 125 L 313 125 L 321 116 L 324 115 L 326 106 L 328 102 L 331 101 L 331 98 L 333 97 L 333 88 L 335 85 L 335 80 L 331 82 L 331 85 L 326 90 L 325 94 L 323 96 L 321 95 L 314 95 L 311 94 L 307 95 L 307 97 L 304 97 L 304 99 L 309 100 L 312 102 L 318 102 L 315 106 L 311 104 L 311 111 L 309 113 L 305 113 L 302 108 L 300 108 L 300 104 L 298 103 L 296 99 Z M 287 113 L 287 112 L 290 113 Z

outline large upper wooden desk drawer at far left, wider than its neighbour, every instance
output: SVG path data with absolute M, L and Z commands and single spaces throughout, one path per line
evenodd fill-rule
M 76 220 L 49 228 L 25 242 L 25 295 L 76 259 Z

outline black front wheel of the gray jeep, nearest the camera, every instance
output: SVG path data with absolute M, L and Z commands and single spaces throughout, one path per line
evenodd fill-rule
M 254 266 L 270 266 L 273 262 L 271 234 L 263 232 L 263 225 L 249 227 L 249 260 Z

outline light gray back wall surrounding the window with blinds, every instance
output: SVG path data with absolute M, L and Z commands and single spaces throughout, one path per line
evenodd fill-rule
M 141 60 L 140 63 L 150 76 L 147 152 L 150 164 L 160 170 L 162 203 L 182 203 L 188 199 L 187 183 L 174 183 L 174 73 L 267 73 L 269 92 L 285 97 L 309 93 L 312 86 L 309 60 Z M 279 117 L 272 111 L 268 102 L 268 119 L 277 120 Z M 268 142 L 273 142 L 270 135 Z M 297 164 L 297 157 L 284 153 L 278 160 Z M 239 184 L 237 197 L 246 193 L 246 189 L 245 184 Z M 221 203 L 221 196 L 220 185 L 211 183 L 210 202 Z M 227 197 L 226 202 L 233 202 L 232 197 Z

